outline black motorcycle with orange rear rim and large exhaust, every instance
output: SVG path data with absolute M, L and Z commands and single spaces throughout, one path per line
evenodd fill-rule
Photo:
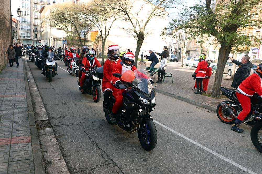
M 233 124 L 240 111 L 242 111 L 242 107 L 236 97 L 236 89 L 220 87 L 220 91 L 222 93 L 219 96 L 225 95 L 231 101 L 222 101 L 217 106 L 217 117 L 223 123 Z M 242 123 L 249 126 L 254 126 L 258 121 L 261 120 L 260 113 L 262 112 L 262 98 L 257 93 L 255 93 L 250 97 L 250 101 L 250 113 L 247 115 L 247 117 L 245 117 Z

